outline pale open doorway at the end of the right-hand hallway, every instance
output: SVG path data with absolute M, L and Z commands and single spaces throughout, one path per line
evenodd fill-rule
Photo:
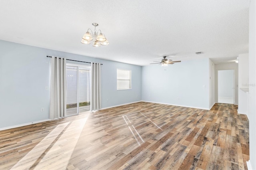
M 218 70 L 218 103 L 234 104 L 234 70 Z

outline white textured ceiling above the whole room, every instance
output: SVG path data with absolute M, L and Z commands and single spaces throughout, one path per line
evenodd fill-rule
M 135 65 L 248 53 L 250 0 L 0 0 L 0 39 Z M 88 28 L 108 46 L 80 43 Z M 195 52 L 204 54 L 196 55 Z M 220 60 L 219 60 L 220 59 Z

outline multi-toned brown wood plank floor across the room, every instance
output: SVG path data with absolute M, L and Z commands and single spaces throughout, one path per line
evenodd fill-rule
M 0 131 L 0 169 L 247 169 L 249 122 L 210 110 L 138 102 Z

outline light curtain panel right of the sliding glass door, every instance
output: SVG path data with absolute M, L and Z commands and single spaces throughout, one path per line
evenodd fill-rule
M 91 111 L 96 111 L 101 109 L 101 69 L 100 63 L 91 64 Z

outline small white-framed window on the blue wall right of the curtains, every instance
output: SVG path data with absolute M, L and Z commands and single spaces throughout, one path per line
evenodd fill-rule
M 132 89 L 132 71 L 117 69 L 117 89 Z

